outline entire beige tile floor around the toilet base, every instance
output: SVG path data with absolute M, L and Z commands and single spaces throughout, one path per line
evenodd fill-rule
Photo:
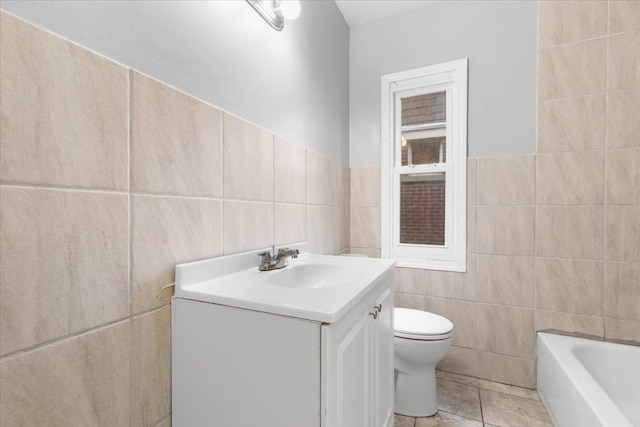
M 395 427 L 552 427 L 535 390 L 436 371 L 438 413 L 395 416 Z

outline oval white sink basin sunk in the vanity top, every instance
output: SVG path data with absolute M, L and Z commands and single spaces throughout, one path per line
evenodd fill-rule
M 351 283 L 358 277 L 357 269 L 344 265 L 299 264 L 278 271 L 269 278 L 269 283 L 283 288 L 330 288 Z

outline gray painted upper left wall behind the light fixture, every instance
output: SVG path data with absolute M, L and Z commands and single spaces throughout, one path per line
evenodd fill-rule
M 349 162 L 349 28 L 303 2 L 277 32 L 245 1 L 2 1 L 2 9 Z

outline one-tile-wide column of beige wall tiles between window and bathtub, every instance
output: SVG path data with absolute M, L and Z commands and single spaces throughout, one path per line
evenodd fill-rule
M 532 387 L 535 156 L 475 162 L 476 178 L 471 175 L 468 186 L 478 195 L 477 345 L 468 370 L 475 369 L 479 378 Z

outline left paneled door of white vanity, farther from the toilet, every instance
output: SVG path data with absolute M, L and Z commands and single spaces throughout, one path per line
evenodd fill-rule
M 364 304 L 322 327 L 322 426 L 371 427 L 369 314 Z

